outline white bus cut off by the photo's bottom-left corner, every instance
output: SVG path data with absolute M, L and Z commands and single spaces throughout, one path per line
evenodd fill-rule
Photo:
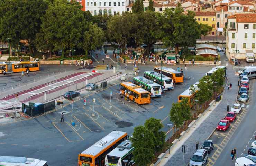
M 48 166 L 46 161 L 35 158 L 0 156 L 1 166 Z

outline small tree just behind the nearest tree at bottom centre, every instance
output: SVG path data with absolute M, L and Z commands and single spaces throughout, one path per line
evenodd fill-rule
M 162 149 L 165 140 L 165 133 L 163 131 L 160 131 L 164 127 L 160 119 L 155 119 L 153 117 L 147 119 L 144 126 L 147 130 L 153 132 L 154 151 Z

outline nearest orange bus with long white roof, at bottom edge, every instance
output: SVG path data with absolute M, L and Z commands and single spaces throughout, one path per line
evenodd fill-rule
M 104 166 L 106 155 L 126 139 L 126 132 L 112 131 L 78 155 L 78 166 Z

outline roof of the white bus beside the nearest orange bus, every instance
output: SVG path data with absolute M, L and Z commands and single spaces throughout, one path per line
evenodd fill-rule
M 130 140 L 125 140 L 121 144 L 119 144 L 115 149 L 109 152 L 107 156 L 115 156 L 115 157 L 123 157 L 129 151 L 133 151 L 134 147 L 132 147 L 132 143 Z

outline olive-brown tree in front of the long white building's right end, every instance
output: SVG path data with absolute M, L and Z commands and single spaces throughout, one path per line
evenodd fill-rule
M 115 15 L 107 22 L 107 34 L 111 42 L 117 42 L 124 55 L 126 44 L 130 38 L 136 37 L 138 17 L 133 13 Z

